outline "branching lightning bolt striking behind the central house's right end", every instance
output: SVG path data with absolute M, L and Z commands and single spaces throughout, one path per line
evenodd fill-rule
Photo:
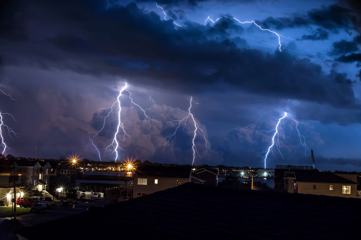
M 194 119 L 194 116 L 193 114 L 191 113 L 191 108 L 192 108 L 192 102 L 194 102 L 195 104 L 198 104 L 197 102 L 193 101 L 192 97 L 191 97 L 191 101 L 190 101 L 190 106 L 188 108 L 188 115 L 186 117 L 184 117 L 183 119 L 181 120 L 170 120 L 168 121 L 167 123 L 169 122 L 178 122 L 178 126 L 175 128 L 175 131 L 173 132 L 173 134 L 171 135 L 168 135 L 166 136 L 166 139 L 168 139 L 166 141 L 166 143 L 164 144 L 164 148 L 163 150 L 165 149 L 166 147 L 166 144 L 169 143 L 170 140 L 171 141 L 171 146 L 173 146 L 173 141 L 176 139 L 176 133 L 177 133 L 177 130 L 178 128 L 181 126 L 181 123 L 184 122 L 184 125 L 183 125 L 183 133 L 186 132 L 188 130 L 188 125 L 190 124 L 190 122 L 192 121 L 193 123 L 193 126 L 194 126 L 194 133 L 193 133 L 193 138 L 192 138 L 192 151 L 193 151 L 193 161 L 192 161 L 192 166 L 194 164 L 194 161 L 196 159 L 196 157 L 198 156 L 200 158 L 200 155 L 197 151 L 197 147 L 195 145 L 195 139 L 196 139 L 196 136 L 197 136 L 197 132 L 203 136 L 204 140 L 205 140 L 205 147 L 207 149 L 207 151 L 209 150 L 210 151 L 210 147 L 209 147 L 209 142 L 206 138 L 206 135 L 205 135 L 205 132 L 202 130 L 202 128 L 199 127 L 199 125 L 196 123 L 195 119 Z

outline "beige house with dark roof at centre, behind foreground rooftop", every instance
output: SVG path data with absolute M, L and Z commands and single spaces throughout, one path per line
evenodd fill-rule
M 134 174 L 133 198 L 179 186 L 191 181 L 191 167 L 138 166 Z

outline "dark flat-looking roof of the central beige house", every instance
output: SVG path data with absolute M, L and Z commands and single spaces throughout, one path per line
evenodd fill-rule
M 191 166 L 138 166 L 135 170 L 136 176 L 155 176 L 166 178 L 189 178 Z

